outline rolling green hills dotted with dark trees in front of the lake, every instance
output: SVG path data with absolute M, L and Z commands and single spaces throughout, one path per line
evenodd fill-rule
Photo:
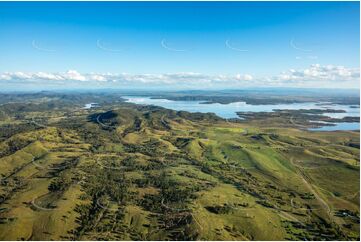
M 1 240 L 359 239 L 359 132 L 37 95 L 0 106 Z

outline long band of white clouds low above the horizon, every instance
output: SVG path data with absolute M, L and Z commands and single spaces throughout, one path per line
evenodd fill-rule
M 290 69 L 274 76 L 256 77 L 251 74 L 206 75 L 201 73 L 129 74 L 67 72 L 4 72 L 3 84 L 40 83 L 42 85 L 91 84 L 119 87 L 181 86 L 189 88 L 212 87 L 333 87 L 358 88 L 360 70 L 344 66 L 313 64 L 306 69 Z

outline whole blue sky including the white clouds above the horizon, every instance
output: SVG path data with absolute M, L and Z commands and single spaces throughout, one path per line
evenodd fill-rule
M 358 2 L 1 2 L 0 80 L 358 88 L 359 19 Z

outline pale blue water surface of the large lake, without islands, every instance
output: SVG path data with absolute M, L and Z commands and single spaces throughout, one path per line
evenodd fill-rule
M 345 110 L 345 113 L 324 113 L 325 116 L 333 118 L 343 118 L 346 116 L 360 117 L 360 107 L 351 107 L 350 105 L 339 105 L 319 102 L 304 102 L 291 104 L 266 104 L 253 105 L 246 102 L 234 102 L 229 104 L 210 103 L 202 104 L 204 101 L 173 101 L 168 99 L 152 99 L 150 97 L 123 96 L 126 102 L 143 105 L 155 105 L 172 109 L 176 111 L 215 113 L 222 118 L 239 118 L 236 112 L 273 112 L 274 109 L 337 109 Z M 323 126 L 322 131 L 326 130 L 357 130 L 359 123 L 339 123 L 336 126 Z M 320 130 L 321 129 L 317 129 Z M 316 129 L 312 129 L 316 130 Z

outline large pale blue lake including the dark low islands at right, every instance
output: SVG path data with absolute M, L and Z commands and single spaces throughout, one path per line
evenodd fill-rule
M 163 108 L 187 111 L 214 113 L 224 119 L 241 119 L 240 113 L 274 114 L 275 112 L 290 112 L 290 115 L 302 116 L 302 121 L 310 125 L 310 131 L 359 130 L 360 108 L 355 105 L 340 105 L 329 102 L 297 102 L 290 104 L 247 104 L 232 102 L 229 104 L 208 103 L 205 100 L 175 101 L 154 98 L 151 96 L 122 96 L 125 102 L 140 105 L 155 105 Z M 307 114 L 307 118 L 303 117 Z M 307 120 L 309 118 L 309 120 Z M 313 120 L 311 120 L 311 118 Z M 321 121 L 319 123 L 314 121 Z M 312 123 L 313 122 L 313 126 Z M 322 123 L 324 122 L 324 123 Z

